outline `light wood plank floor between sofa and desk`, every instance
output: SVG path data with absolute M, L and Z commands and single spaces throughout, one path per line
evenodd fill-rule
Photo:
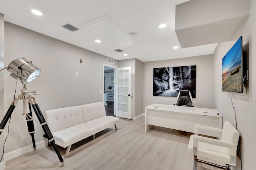
M 114 127 L 72 145 L 68 158 L 59 147 L 65 166 L 55 151 L 43 147 L 6 162 L 7 170 L 192 170 L 193 155 L 188 154 L 191 133 L 153 127 L 145 130 L 145 118 L 120 119 Z M 100 134 L 102 134 L 100 136 Z M 198 163 L 198 170 L 220 170 Z

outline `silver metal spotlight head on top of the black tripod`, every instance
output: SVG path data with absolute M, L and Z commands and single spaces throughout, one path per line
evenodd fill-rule
M 32 64 L 32 61 L 20 57 L 12 61 L 7 70 L 14 79 L 20 79 L 23 84 L 33 81 L 41 72 L 41 69 Z

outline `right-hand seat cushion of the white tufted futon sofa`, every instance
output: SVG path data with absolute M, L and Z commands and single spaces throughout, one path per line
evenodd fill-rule
M 88 121 L 86 123 L 96 125 L 99 128 L 99 131 L 102 131 L 110 126 L 113 126 L 119 123 L 119 118 L 113 117 L 113 116 L 103 116 L 103 117 L 99 117 L 91 121 Z

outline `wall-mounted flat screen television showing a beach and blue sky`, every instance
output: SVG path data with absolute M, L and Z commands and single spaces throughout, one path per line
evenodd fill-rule
M 222 91 L 243 93 L 242 36 L 222 58 Z

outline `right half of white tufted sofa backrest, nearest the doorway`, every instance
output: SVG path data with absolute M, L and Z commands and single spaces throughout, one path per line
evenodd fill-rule
M 106 110 L 103 102 L 81 105 L 84 114 L 84 122 L 106 116 Z

